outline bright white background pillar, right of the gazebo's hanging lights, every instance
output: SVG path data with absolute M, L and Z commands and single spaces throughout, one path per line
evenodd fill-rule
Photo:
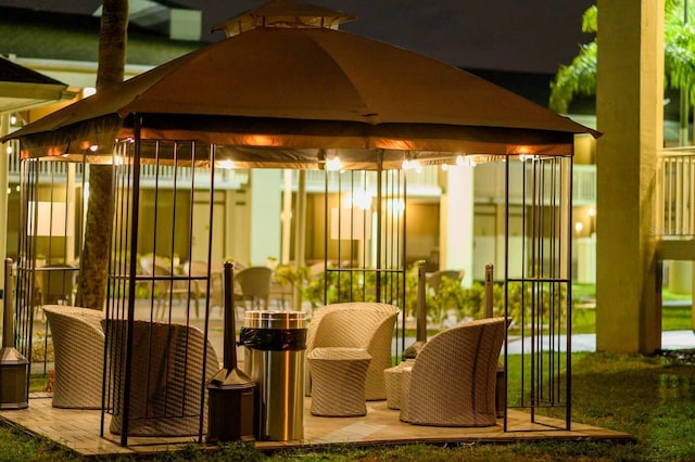
M 463 269 L 473 281 L 473 167 L 450 167 L 440 207 L 440 269 Z

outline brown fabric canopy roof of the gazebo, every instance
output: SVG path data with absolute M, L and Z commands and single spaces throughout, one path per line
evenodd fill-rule
M 265 20 L 240 29 L 11 137 L 22 139 L 25 156 L 81 155 L 89 146 L 111 154 L 115 139 L 134 136 L 137 114 L 141 139 L 232 146 L 227 155 L 247 167 L 314 168 L 325 150 L 339 149 L 365 168 L 375 149 L 383 150 L 388 167 L 400 166 L 404 152 L 432 162 L 442 153 L 569 154 L 573 134 L 598 136 L 472 74 L 387 43 Z

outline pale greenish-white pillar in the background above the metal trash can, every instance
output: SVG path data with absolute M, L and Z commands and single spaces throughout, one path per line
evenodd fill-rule
M 281 170 L 251 170 L 250 265 L 265 265 L 267 257 L 280 256 L 282 211 Z

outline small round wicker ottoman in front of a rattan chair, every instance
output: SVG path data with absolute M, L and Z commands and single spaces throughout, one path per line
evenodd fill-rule
M 312 370 L 312 414 L 367 414 L 365 380 L 371 356 L 364 348 L 314 348 L 306 359 Z

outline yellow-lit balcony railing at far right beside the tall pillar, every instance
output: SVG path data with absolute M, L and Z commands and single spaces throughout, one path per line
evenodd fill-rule
M 661 239 L 692 239 L 695 234 L 695 147 L 672 147 L 659 153 L 656 178 L 653 233 Z

